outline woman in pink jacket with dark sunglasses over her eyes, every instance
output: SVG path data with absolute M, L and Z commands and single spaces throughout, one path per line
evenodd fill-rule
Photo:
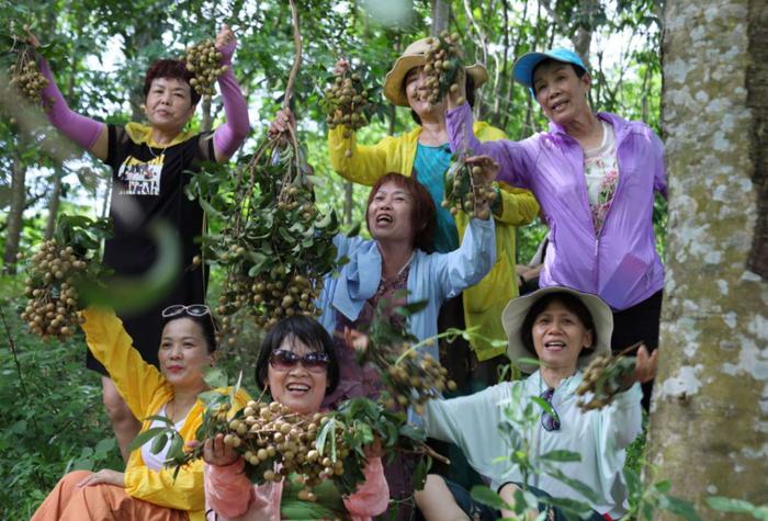
M 334 343 L 317 321 L 293 316 L 267 333 L 256 363 L 256 380 L 272 399 L 293 412 L 312 415 L 320 410 L 326 393 L 339 383 Z M 365 482 L 355 494 L 341 497 L 332 482 L 313 489 L 317 500 L 298 498 L 291 477 L 280 483 L 253 486 L 242 473 L 245 462 L 219 434 L 205 442 L 205 499 L 208 519 L 272 521 L 280 519 L 371 519 L 382 513 L 389 500 L 377 450 L 369 452 L 363 469 Z

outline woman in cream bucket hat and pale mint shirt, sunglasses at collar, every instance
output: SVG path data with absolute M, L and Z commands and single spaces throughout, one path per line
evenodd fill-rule
M 598 500 L 590 503 L 594 512 L 589 519 L 620 519 L 626 511 L 626 489 L 621 475 L 624 450 L 641 432 L 642 392 L 636 383 L 654 376 L 656 352 L 650 356 L 646 348 L 641 347 L 635 371 L 623 382 L 613 404 L 584 412 L 576 405 L 576 388 L 583 377 L 580 367 L 596 355 L 611 353 L 610 307 L 595 295 L 551 286 L 511 301 L 502 322 L 512 362 L 531 372 L 535 367 L 519 363 L 519 359 L 537 358 L 539 369 L 523 381 L 504 382 L 471 396 L 428 403 L 427 434 L 458 444 L 470 464 L 490 478 L 492 488 L 508 505 L 515 505 L 515 492 L 522 487 L 523 478 L 520 469 L 508 461 L 497 461 L 509 453 L 502 432 L 516 429 L 527 437 L 533 461 L 551 451 L 577 452 L 580 461 L 563 462 L 560 469 L 596 492 Z M 534 397 L 549 401 L 554 414 L 543 411 L 533 429 L 521 429 L 510 422 L 510 418 L 522 416 Z M 529 486 L 539 497 L 589 503 L 578 491 L 545 473 L 533 474 Z M 437 475 L 427 478 L 416 501 L 428 521 L 515 517 L 508 510 L 498 512 L 475 502 L 466 490 Z M 557 508 L 540 502 L 539 509 L 547 510 L 547 520 L 565 519 Z

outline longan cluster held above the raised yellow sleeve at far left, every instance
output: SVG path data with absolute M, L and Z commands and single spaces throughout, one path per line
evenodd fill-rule
M 78 316 L 78 293 L 75 278 L 88 263 L 75 254 L 72 247 L 55 240 L 43 242 L 31 258 L 24 294 L 30 298 L 21 318 L 35 335 L 65 339 L 75 333 Z

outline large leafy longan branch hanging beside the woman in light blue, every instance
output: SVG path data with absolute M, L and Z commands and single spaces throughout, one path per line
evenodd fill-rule
M 291 2 L 294 63 L 283 106 L 293 97 L 302 60 L 298 11 Z M 195 175 L 190 191 L 225 223 L 221 235 L 203 240 L 204 258 L 225 269 L 217 313 L 234 339 L 231 317 L 241 309 L 257 326 L 270 328 L 292 315 L 319 316 L 315 302 L 323 278 L 334 270 L 332 239 L 339 223 L 335 212 L 315 206 L 310 168 L 295 131 L 267 135 L 256 151 L 241 159 L 233 174 L 226 170 Z M 231 186 L 231 196 L 223 196 Z M 225 189 L 225 190 L 223 190 Z

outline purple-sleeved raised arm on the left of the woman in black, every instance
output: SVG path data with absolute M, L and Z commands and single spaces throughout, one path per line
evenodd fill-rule
M 35 48 L 39 47 L 39 42 L 34 34 L 29 33 L 27 41 Z M 102 161 L 106 160 L 109 152 L 106 125 L 72 111 L 61 95 L 61 91 L 56 87 L 56 80 L 48 61 L 41 57 L 38 66 L 41 73 L 48 80 L 48 87 L 43 90 L 43 98 L 52 101 L 50 110 L 46 112 L 50 124 Z

